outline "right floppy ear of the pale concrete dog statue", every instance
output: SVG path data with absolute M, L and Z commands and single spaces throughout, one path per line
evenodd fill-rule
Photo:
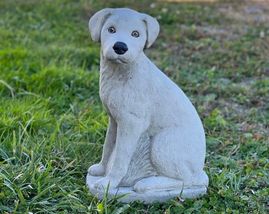
M 144 48 L 148 48 L 157 38 L 160 27 L 158 21 L 155 18 L 152 18 L 147 14 L 142 15 L 143 15 L 142 20 L 146 26 L 146 42 Z

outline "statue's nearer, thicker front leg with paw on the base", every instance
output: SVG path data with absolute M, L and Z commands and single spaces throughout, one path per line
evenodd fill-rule
M 110 189 L 118 188 L 121 181 L 127 175 L 130 162 L 136 152 L 136 147 L 140 137 L 146 132 L 149 124 L 148 118 L 137 118 L 134 115 L 130 116 L 128 121 L 121 121 L 117 129 L 117 141 L 114 152 L 113 167 L 103 179 L 95 183 L 95 188 L 103 190 L 106 189 L 110 181 Z

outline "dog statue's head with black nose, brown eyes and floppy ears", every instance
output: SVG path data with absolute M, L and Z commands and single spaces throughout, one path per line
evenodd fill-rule
M 115 63 L 130 63 L 143 48 L 148 48 L 159 33 L 158 22 L 132 9 L 103 9 L 89 22 L 95 42 L 101 42 L 105 58 Z

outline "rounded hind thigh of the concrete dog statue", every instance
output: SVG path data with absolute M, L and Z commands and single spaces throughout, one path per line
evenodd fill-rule
M 184 182 L 184 188 L 199 183 L 199 177 L 205 175 L 205 137 L 198 128 L 169 127 L 155 134 L 150 161 L 158 176 Z

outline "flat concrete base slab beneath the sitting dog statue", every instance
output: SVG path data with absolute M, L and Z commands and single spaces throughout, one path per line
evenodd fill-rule
M 96 177 L 87 175 L 87 182 L 86 187 L 89 188 L 89 193 L 92 194 L 92 196 L 97 196 L 98 200 L 104 199 L 104 191 L 100 191 L 94 188 L 94 184 L 97 180 L 102 179 L 103 177 Z M 106 187 L 105 191 L 106 191 Z M 165 201 L 168 201 L 169 199 L 175 199 L 175 197 L 178 197 L 182 189 L 176 189 L 176 190 L 170 190 L 170 191 L 160 191 L 160 192 L 149 192 L 149 193 L 136 193 L 134 192 L 133 188 L 130 187 L 121 187 L 119 189 L 112 189 L 109 190 L 108 193 L 108 199 L 115 198 L 116 194 L 117 196 L 130 193 L 129 195 L 125 196 L 124 198 L 119 199 L 118 201 L 124 202 L 124 203 L 132 203 L 136 200 L 139 200 L 140 202 L 144 202 L 144 205 L 151 204 L 153 202 L 160 202 L 163 203 Z M 190 189 L 183 189 L 181 199 L 186 198 L 196 198 L 201 194 L 202 196 L 206 194 L 206 187 L 203 188 L 190 188 Z

